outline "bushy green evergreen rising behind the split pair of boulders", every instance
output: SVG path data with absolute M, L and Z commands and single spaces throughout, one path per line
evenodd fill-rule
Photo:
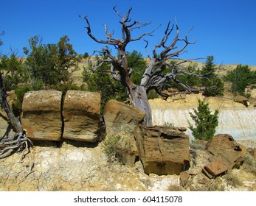
M 36 82 L 41 82 L 47 88 L 61 85 L 71 81 L 70 76 L 77 69 L 81 61 L 69 38 L 63 36 L 58 43 L 42 44 L 42 38 L 30 38 L 30 49 L 24 47 L 27 54 L 25 61 L 27 73 L 30 76 L 30 85 L 35 88 Z

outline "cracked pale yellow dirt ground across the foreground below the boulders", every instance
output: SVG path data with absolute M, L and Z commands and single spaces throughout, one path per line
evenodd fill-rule
M 147 175 L 139 161 L 109 163 L 101 143 L 36 143 L 23 159 L 15 153 L 0 160 L 0 191 L 256 191 L 255 169 L 242 166 L 210 180 L 201 174 L 209 154 L 196 153 L 197 166 L 181 187 L 179 175 Z

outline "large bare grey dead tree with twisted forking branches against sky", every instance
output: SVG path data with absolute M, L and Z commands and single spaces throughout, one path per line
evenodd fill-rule
M 140 29 L 142 26 L 148 26 L 151 22 L 147 22 L 145 24 L 140 23 L 139 21 L 131 21 L 130 13 L 132 8 L 128 10 L 125 15 L 120 15 L 116 8 L 114 7 L 114 11 L 121 18 L 120 24 L 122 38 L 114 38 L 113 33 L 108 32 L 108 27 L 105 25 L 105 36 L 106 40 L 99 40 L 91 33 L 91 26 L 89 23 L 89 19 L 87 16 L 80 16 L 86 20 L 86 29 L 89 37 L 96 41 L 97 43 L 105 44 L 105 48 L 99 51 L 104 56 L 108 57 L 101 61 L 100 65 L 103 63 L 111 63 L 110 72 L 114 79 L 120 81 L 122 85 L 126 88 L 129 98 L 131 99 L 131 104 L 139 108 L 140 110 L 146 113 L 145 120 L 143 124 L 151 126 L 152 125 L 152 116 L 151 116 L 151 106 L 148 102 L 147 93 L 150 90 L 156 90 L 156 93 L 159 93 L 161 96 L 166 95 L 162 93 L 161 88 L 167 81 L 173 81 L 177 84 L 181 85 L 183 88 L 186 88 L 189 92 L 198 92 L 193 88 L 190 88 L 188 85 L 179 81 L 179 75 L 189 74 L 193 76 L 200 76 L 196 74 L 191 74 L 186 71 L 185 68 L 181 67 L 183 63 L 186 63 L 190 60 L 181 60 L 179 56 L 185 52 L 185 49 L 188 45 L 193 44 L 195 42 L 190 43 L 187 39 L 187 35 L 184 38 L 179 38 L 179 26 L 167 24 L 167 28 L 165 29 L 165 34 L 162 37 L 162 40 L 159 44 L 153 47 L 153 57 L 150 58 L 150 63 L 148 63 L 148 68 L 146 68 L 145 73 L 141 79 L 140 85 L 135 85 L 134 82 L 131 82 L 131 68 L 128 68 L 127 55 L 125 52 L 126 46 L 130 42 L 134 42 L 136 40 L 144 40 L 145 36 L 150 36 L 156 30 L 154 29 L 152 32 L 143 33 L 136 38 L 133 38 L 131 32 L 135 29 Z M 168 38 L 172 32 L 176 31 L 176 35 L 173 40 L 168 43 Z M 148 42 L 145 40 L 148 45 Z M 184 45 L 179 48 L 177 44 L 180 45 L 183 43 Z M 117 49 L 117 57 L 114 57 L 111 54 L 108 46 L 114 46 Z M 158 54 L 157 49 L 162 49 L 162 51 Z M 175 59 L 176 61 L 173 61 Z M 96 70 L 100 67 L 94 68 Z

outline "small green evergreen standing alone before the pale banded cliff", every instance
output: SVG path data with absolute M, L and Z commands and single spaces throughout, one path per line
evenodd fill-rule
M 209 141 L 215 134 L 215 129 L 218 126 L 218 110 L 212 114 L 209 104 L 198 100 L 198 108 L 194 109 L 194 114 L 190 113 L 191 118 L 195 121 L 195 126 L 189 122 L 190 129 L 196 139 Z

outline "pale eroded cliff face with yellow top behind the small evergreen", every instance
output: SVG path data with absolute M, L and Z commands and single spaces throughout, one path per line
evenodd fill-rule
M 218 127 L 215 134 L 227 133 L 232 135 L 236 141 L 246 146 L 256 146 L 256 108 L 246 107 L 232 99 L 204 98 L 201 94 L 180 96 L 174 99 L 150 100 L 153 125 L 163 125 L 167 122 L 176 127 L 189 127 L 188 122 L 193 123 L 190 112 L 198 107 L 198 99 L 209 103 L 211 110 L 219 110 Z M 185 132 L 193 139 L 190 129 Z

